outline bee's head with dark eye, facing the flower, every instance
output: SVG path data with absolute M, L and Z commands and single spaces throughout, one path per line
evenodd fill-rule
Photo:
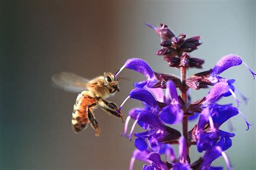
M 114 93 L 116 91 L 119 91 L 118 82 L 119 79 L 116 79 L 116 76 L 114 74 L 108 72 L 104 73 L 104 81 L 105 81 L 105 87 L 109 90 L 109 93 Z

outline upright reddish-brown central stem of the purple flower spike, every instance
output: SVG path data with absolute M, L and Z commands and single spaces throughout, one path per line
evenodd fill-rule
M 180 73 L 181 73 L 181 88 L 180 88 L 181 98 L 185 103 L 187 103 L 186 67 L 181 67 Z M 182 119 L 182 128 L 183 128 L 183 136 L 186 142 L 186 153 L 187 153 L 187 157 L 189 158 L 190 144 L 188 144 L 188 139 L 187 139 L 187 129 L 188 129 L 187 126 L 188 126 L 187 115 L 184 115 Z

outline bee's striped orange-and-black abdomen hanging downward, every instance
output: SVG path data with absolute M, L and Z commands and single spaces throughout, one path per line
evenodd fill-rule
M 72 112 L 72 126 L 73 130 L 78 133 L 83 130 L 89 121 L 87 106 L 96 102 L 96 100 L 86 94 L 87 91 L 83 91 L 77 96 L 76 104 Z M 92 108 L 90 108 L 92 111 Z

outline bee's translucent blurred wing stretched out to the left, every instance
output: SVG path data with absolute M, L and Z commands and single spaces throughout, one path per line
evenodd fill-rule
M 89 80 L 74 73 L 62 72 L 53 75 L 52 82 L 55 87 L 64 89 L 65 91 L 79 93 L 87 89 L 86 84 Z

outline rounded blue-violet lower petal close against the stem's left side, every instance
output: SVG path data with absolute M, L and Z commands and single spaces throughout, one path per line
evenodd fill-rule
M 159 118 L 167 124 L 177 124 L 183 118 L 183 111 L 180 109 L 179 105 L 170 104 L 162 109 Z

